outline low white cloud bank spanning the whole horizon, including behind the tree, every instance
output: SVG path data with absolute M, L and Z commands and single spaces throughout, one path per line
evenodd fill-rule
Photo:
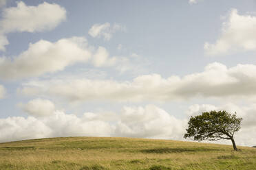
M 28 118 L 0 119 L 0 142 L 58 136 L 125 136 L 182 140 L 189 116 L 211 110 L 227 110 L 232 113 L 236 111 L 244 119 L 242 129 L 235 135 L 237 145 L 255 145 L 256 140 L 251 135 L 256 130 L 255 105 L 245 107 L 235 104 L 195 104 L 186 111 L 188 117 L 185 119 L 177 119 L 154 105 L 125 106 L 120 112 L 85 112 L 81 117 L 54 110 L 52 101 L 46 99 L 34 99 L 23 104 L 22 108 L 30 115 Z M 218 143 L 231 144 L 231 141 Z

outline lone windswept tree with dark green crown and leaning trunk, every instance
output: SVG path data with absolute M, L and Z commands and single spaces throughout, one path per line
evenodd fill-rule
M 194 141 L 217 141 L 228 139 L 232 141 L 233 148 L 237 151 L 234 134 L 241 128 L 242 118 L 235 114 L 223 111 L 202 112 L 202 114 L 189 119 L 189 127 L 184 138 L 193 137 Z

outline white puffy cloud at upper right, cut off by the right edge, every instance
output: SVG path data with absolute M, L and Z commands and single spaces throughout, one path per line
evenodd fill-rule
M 240 15 L 231 10 L 228 21 L 222 23 L 222 33 L 215 43 L 204 43 L 209 56 L 223 55 L 237 51 L 256 51 L 256 16 Z

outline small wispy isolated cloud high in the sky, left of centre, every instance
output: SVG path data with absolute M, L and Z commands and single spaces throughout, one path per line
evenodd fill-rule
M 116 31 L 124 31 L 125 27 L 120 24 L 111 25 L 110 23 L 94 24 L 89 29 L 88 34 L 94 38 L 103 37 L 105 40 L 110 40 Z

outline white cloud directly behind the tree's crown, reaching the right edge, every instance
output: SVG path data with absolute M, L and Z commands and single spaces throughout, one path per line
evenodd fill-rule
M 256 137 L 252 132 L 256 130 L 256 105 L 237 106 L 232 103 L 224 104 L 222 106 L 214 106 L 210 104 L 194 104 L 189 107 L 187 114 L 195 116 L 202 112 L 209 112 L 211 110 L 226 110 L 231 113 L 237 112 L 237 117 L 242 117 L 241 130 L 235 135 L 235 140 L 239 145 L 255 145 Z M 222 141 L 223 143 L 230 143 L 230 141 Z

